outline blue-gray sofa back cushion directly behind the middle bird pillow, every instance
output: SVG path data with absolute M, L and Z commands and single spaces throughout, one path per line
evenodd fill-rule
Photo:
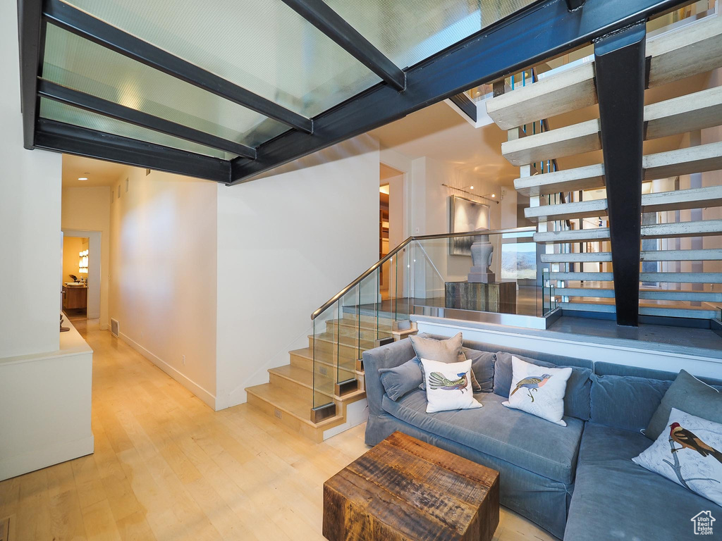
M 512 376 L 512 356 L 526 361 L 536 366 L 544 368 L 565 368 L 566 366 L 552 364 L 547 361 L 539 361 L 529 357 L 519 356 L 504 351 L 496 354 L 496 362 L 494 364 L 494 392 L 499 396 L 509 397 Z M 588 368 L 580 368 L 579 366 L 570 366 L 572 375 L 567 381 L 567 390 L 564 395 L 564 414 L 588 421 L 589 419 L 589 393 L 591 391 L 591 375 L 592 371 Z

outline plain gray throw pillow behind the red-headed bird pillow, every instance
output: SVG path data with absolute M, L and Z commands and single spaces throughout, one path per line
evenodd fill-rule
M 644 435 L 649 439 L 657 439 L 667 428 L 666 423 L 672 408 L 713 423 L 722 423 L 722 392 L 700 382 L 689 372 L 680 370 L 677 378 L 664 393 Z

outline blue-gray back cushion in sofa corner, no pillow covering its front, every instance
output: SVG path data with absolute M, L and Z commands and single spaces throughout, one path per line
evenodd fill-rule
M 592 423 L 640 431 L 671 382 L 634 376 L 591 376 Z M 649 440 L 647 440 L 649 444 Z

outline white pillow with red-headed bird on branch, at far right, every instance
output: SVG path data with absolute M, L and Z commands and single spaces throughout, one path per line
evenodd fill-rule
M 666 428 L 632 462 L 722 506 L 722 424 L 672 408 Z

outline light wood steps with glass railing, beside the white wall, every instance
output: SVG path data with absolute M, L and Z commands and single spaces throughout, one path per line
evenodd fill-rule
M 325 332 L 308 335 L 308 348 L 289 351 L 290 364 L 269 369 L 268 383 L 246 389 L 248 404 L 316 442 L 348 426 L 349 407 L 366 397 L 361 354 L 375 347 L 379 333 L 391 336 L 393 320 L 380 317 L 377 325 L 375 318 L 344 313 L 325 325 Z M 333 403 L 335 414 L 312 420 L 319 402 Z

